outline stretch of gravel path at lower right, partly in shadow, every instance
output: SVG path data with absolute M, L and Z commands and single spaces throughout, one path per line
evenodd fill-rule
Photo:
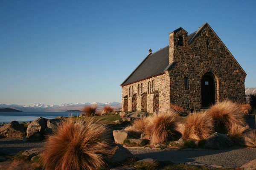
M 207 164 L 221 167 L 240 167 L 256 159 L 256 148 L 232 148 L 225 150 L 183 149 L 154 150 L 127 148 L 139 159 L 157 159 L 174 163 Z

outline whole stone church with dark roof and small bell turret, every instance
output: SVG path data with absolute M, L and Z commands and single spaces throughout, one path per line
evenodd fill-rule
M 178 105 L 191 113 L 225 99 L 245 102 L 245 77 L 208 23 L 189 35 L 180 27 L 122 82 L 122 110 L 164 113 Z

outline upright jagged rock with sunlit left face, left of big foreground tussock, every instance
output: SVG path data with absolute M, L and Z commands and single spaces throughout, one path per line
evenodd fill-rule
M 26 130 L 26 141 L 40 141 L 43 139 L 42 134 L 47 128 L 47 120 L 42 117 L 38 117 L 31 122 Z

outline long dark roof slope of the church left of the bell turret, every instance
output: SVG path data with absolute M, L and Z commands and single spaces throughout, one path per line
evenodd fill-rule
M 128 85 L 149 77 L 164 73 L 169 65 L 169 45 L 156 51 L 143 60 L 138 67 L 122 82 L 121 85 Z

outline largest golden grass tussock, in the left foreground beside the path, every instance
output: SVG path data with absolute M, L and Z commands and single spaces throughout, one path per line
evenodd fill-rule
M 46 140 L 41 161 L 45 170 L 96 170 L 111 150 L 110 131 L 93 119 L 68 119 Z

